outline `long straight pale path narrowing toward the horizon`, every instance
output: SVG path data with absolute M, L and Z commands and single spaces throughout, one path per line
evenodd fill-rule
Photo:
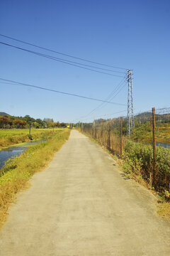
M 0 232 L 1 256 L 170 255 L 154 196 L 79 132 L 31 184 Z

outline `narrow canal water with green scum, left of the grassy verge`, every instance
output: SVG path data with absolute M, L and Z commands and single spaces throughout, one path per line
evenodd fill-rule
M 33 146 L 40 142 L 45 142 L 45 141 L 25 142 L 21 146 L 10 146 L 6 149 L 2 149 L 0 151 L 0 169 L 4 166 L 6 160 L 10 159 L 11 157 L 16 157 L 21 155 L 23 151 L 26 151 L 28 149 L 28 146 Z

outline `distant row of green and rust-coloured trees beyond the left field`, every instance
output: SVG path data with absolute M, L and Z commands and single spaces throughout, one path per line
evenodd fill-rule
M 64 122 L 54 122 L 51 118 L 44 118 L 43 120 L 40 118 L 34 119 L 28 114 L 25 117 L 14 117 L 8 114 L 0 116 L 0 128 L 26 129 L 30 126 L 33 128 L 55 128 L 67 127 L 67 124 Z

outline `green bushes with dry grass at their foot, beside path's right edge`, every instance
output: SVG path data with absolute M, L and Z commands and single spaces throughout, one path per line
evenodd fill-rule
M 157 196 L 158 213 L 170 218 L 170 149 L 157 146 L 155 185 L 152 187 L 153 149 L 139 143 L 127 142 L 123 152 L 123 171 Z

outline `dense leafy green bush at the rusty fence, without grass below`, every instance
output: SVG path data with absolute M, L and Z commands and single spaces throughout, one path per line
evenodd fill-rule
M 150 183 L 153 170 L 152 146 L 128 141 L 125 145 L 123 156 L 125 158 L 123 169 L 126 173 L 141 175 Z M 157 191 L 169 191 L 170 182 L 170 149 L 157 146 L 156 149 L 156 173 L 155 189 Z

